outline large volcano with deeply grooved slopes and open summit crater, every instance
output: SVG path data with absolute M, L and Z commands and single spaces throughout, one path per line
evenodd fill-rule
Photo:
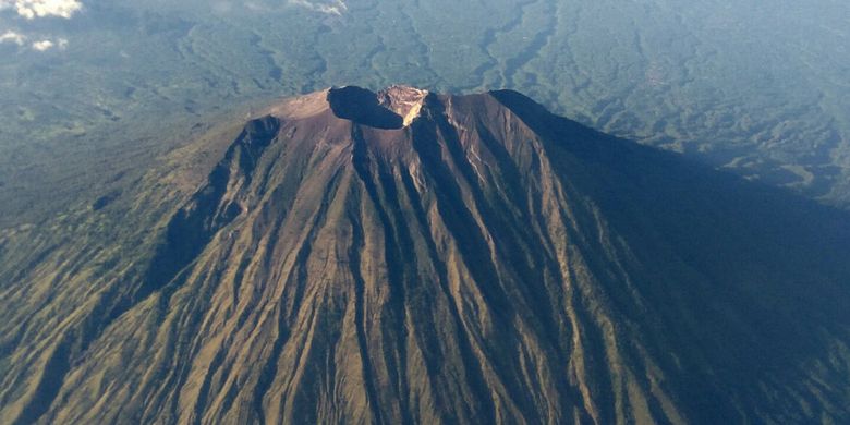
M 3 309 L 75 308 L 0 325 L 3 422 L 850 421 L 841 212 L 513 92 L 267 112 L 180 206 L 135 203 L 162 224 L 102 267 L 136 271 L 0 268 Z

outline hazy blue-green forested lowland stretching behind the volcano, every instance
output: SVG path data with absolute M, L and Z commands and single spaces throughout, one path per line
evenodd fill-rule
M 345 84 L 514 88 L 598 130 L 850 203 L 846 3 L 299 4 L 0 11 L 0 29 L 69 40 L 0 44 L 0 226 L 102 196 L 218 113 Z

